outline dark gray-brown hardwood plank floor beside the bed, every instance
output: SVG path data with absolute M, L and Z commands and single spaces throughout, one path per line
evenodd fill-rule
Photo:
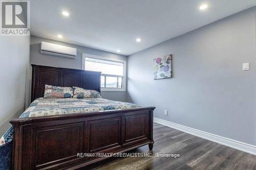
M 256 156 L 154 123 L 154 153 L 170 157 L 109 158 L 84 169 L 256 169 Z M 128 153 L 148 153 L 148 145 Z

